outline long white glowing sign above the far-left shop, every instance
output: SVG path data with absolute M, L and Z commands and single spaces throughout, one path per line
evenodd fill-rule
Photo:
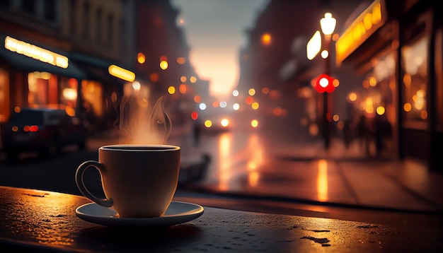
M 38 59 L 39 61 L 52 64 L 54 66 L 59 66 L 60 68 L 66 69 L 68 67 L 68 58 L 61 54 L 54 53 L 50 50 L 37 47 L 28 42 L 23 42 L 21 40 L 16 40 L 13 37 L 6 36 L 5 38 L 5 48 L 11 52 L 16 52 L 18 54 L 23 54 L 27 57 L 33 59 Z

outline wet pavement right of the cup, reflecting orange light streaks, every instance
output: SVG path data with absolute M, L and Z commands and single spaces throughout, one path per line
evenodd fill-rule
M 91 140 L 90 146 L 115 143 Z M 198 145 L 189 134 L 173 134 L 169 144 L 182 147 L 183 164 L 211 160 L 202 180 L 182 182 L 196 193 L 252 196 L 323 206 L 359 206 L 379 210 L 442 213 L 443 173 L 417 160 L 367 157 L 359 143 L 345 148 L 332 139 L 328 151 L 320 139 L 269 136 L 254 131 L 202 134 Z

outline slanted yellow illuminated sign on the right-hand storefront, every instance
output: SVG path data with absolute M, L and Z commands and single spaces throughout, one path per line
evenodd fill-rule
M 360 14 L 335 42 L 335 61 L 340 65 L 346 57 L 386 22 L 383 0 L 374 1 Z

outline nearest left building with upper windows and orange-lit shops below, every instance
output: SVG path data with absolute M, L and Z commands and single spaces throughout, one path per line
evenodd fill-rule
M 91 130 L 105 124 L 122 82 L 108 67 L 130 66 L 134 55 L 132 4 L 2 1 L 1 120 L 15 107 L 54 107 L 90 119 Z

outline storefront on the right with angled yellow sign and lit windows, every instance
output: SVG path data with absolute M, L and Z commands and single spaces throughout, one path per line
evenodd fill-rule
M 365 79 L 356 107 L 389 122 L 381 134 L 395 158 L 442 169 L 442 20 L 429 1 L 374 1 L 336 42 L 338 67 Z M 374 121 L 377 122 L 377 121 Z

